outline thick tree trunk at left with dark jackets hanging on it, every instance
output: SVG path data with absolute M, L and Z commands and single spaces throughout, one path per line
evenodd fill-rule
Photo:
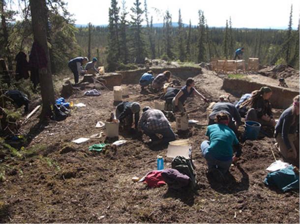
M 32 30 L 34 41 L 36 41 L 45 51 L 48 64 L 45 68 L 39 68 L 41 95 L 42 95 L 42 112 L 41 119 L 51 114 L 51 106 L 55 102 L 54 88 L 51 75 L 51 63 L 47 45 L 47 10 L 45 0 L 30 0 L 30 11 L 32 19 Z

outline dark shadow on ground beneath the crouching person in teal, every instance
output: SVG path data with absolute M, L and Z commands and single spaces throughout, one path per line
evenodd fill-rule
M 248 174 L 243 170 L 243 168 L 240 167 L 240 165 L 237 165 L 237 168 L 240 170 L 242 174 L 241 180 L 238 182 L 235 177 L 228 172 L 225 177 L 224 183 L 219 183 L 213 177 L 207 175 L 207 178 L 210 183 L 210 187 L 221 193 L 221 194 L 236 194 L 241 191 L 246 191 L 249 189 L 249 176 Z

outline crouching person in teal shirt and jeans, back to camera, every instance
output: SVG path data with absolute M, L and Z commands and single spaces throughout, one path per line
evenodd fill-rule
M 223 174 L 227 173 L 231 164 L 241 155 L 239 140 L 232 129 L 228 127 L 229 116 L 219 113 L 215 116 L 215 124 L 209 125 L 206 136 L 209 140 L 201 143 L 201 151 L 208 164 L 208 174 L 223 181 Z M 233 147 L 236 155 L 233 156 Z

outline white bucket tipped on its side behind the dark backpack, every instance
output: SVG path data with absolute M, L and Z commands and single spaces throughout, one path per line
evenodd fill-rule
M 184 156 L 190 158 L 192 146 L 188 139 L 170 141 L 167 151 L 167 157 L 175 158 L 176 156 Z

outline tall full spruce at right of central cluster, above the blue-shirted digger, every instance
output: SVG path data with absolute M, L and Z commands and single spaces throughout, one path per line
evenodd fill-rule
M 135 0 L 133 3 L 133 7 L 131 8 L 132 14 L 131 16 L 131 29 L 133 33 L 132 39 L 132 50 L 133 56 L 135 57 L 136 63 L 144 63 L 145 62 L 145 41 L 142 32 L 142 15 L 144 11 L 141 9 L 140 0 Z

